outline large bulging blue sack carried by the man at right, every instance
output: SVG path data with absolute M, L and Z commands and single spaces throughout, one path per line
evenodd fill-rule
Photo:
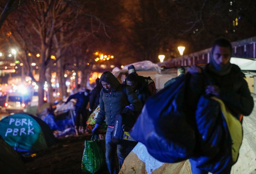
M 148 153 L 161 162 L 180 162 L 190 158 L 195 133 L 184 114 L 188 75 L 181 76 L 148 99 L 130 135 L 143 143 Z

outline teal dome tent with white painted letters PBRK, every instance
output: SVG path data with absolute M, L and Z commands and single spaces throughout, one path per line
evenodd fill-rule
M 0 121 L 0 135 L 17 151 L 35 152 L 55 143 L 44 121 L 28 114 L 14 114 Z

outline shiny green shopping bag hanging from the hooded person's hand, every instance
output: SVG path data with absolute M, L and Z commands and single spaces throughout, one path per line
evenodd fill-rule
M 82 171 L 87 173 L 98 172 L 105 164 L 105 142 L 98 135 L 84 142 L 84 154 L 82 158 Z

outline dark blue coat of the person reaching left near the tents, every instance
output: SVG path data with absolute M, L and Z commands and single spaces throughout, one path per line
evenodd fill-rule
M 80 109 L 86 109 L 86 106 L 89 102 L 89 96 L 85 96 L 84 92 L 85 91 L 79 91 L 76 94 L 69 96 L 66 103 L 68 103 L 71 99 L 76 99 L 75 107 Z

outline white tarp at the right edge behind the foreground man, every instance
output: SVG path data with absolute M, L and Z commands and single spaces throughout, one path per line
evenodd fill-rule
M 231 57 L 230 63 L 236 64 L 241 70 L 256 70 L 256 60 Z

